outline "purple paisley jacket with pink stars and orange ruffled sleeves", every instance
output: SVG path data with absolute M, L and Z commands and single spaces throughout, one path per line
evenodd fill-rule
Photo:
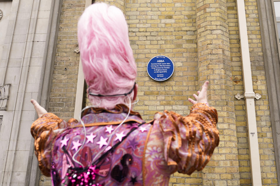
M 105 144 L 108 143 L 108 150 L 122 141 L 106 157 L 97 182 L 105 186 L 167 186 L 170 174 L 176 171 L 191 174 L 203 169 L 218 146 L 217 111 L 203 103 L 193 105 L 188 116 L 166 110 L 157 112 L 154 120 L 148 123 L 141 119 L 139 113 L 132 111 L 109 142 L 112 129 L 125 119 L 127 111 L 124 105 L 117 105 L 113 110 L 87 110 L 82 117 L 86 136 L 81 123 L 75 119 L 66 122 L 52 113 L 38 118 L 31 126 L 31 134 L 35 138 L 35 154 L 42 173 L 50 176 L 55 171 L 56 178 L 52 174 L 53 184 L 60 185 L 68 167 L 73 164 L 78 167 L 70 157 L 81 147 L 84 138 L 86 143 L 75 156 L 84 166 L 90 164 Z M 145 124 L 137 127 L 141 123 Z M 132 128 L 136 130 L 122 140 Z M 121 162 L 123 158 L 131 161 Z M 115 169 L 121 173 L 124 167 L 128 168 L 126 175 L 111 175 Z

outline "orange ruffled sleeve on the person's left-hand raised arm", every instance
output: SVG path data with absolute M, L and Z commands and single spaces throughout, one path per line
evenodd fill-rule
M 35 140 L 35 155 L 39 161 L 39 168 L 45 176 L 50 176 L 53 140 L 58 133 L 64 131 L 72 122 L 78 123 L 76 119 L 70 119 L 68 122 L 65 122 L 55 114 L 46 113 L 36 119 L 31 125 L 31 135 Z

